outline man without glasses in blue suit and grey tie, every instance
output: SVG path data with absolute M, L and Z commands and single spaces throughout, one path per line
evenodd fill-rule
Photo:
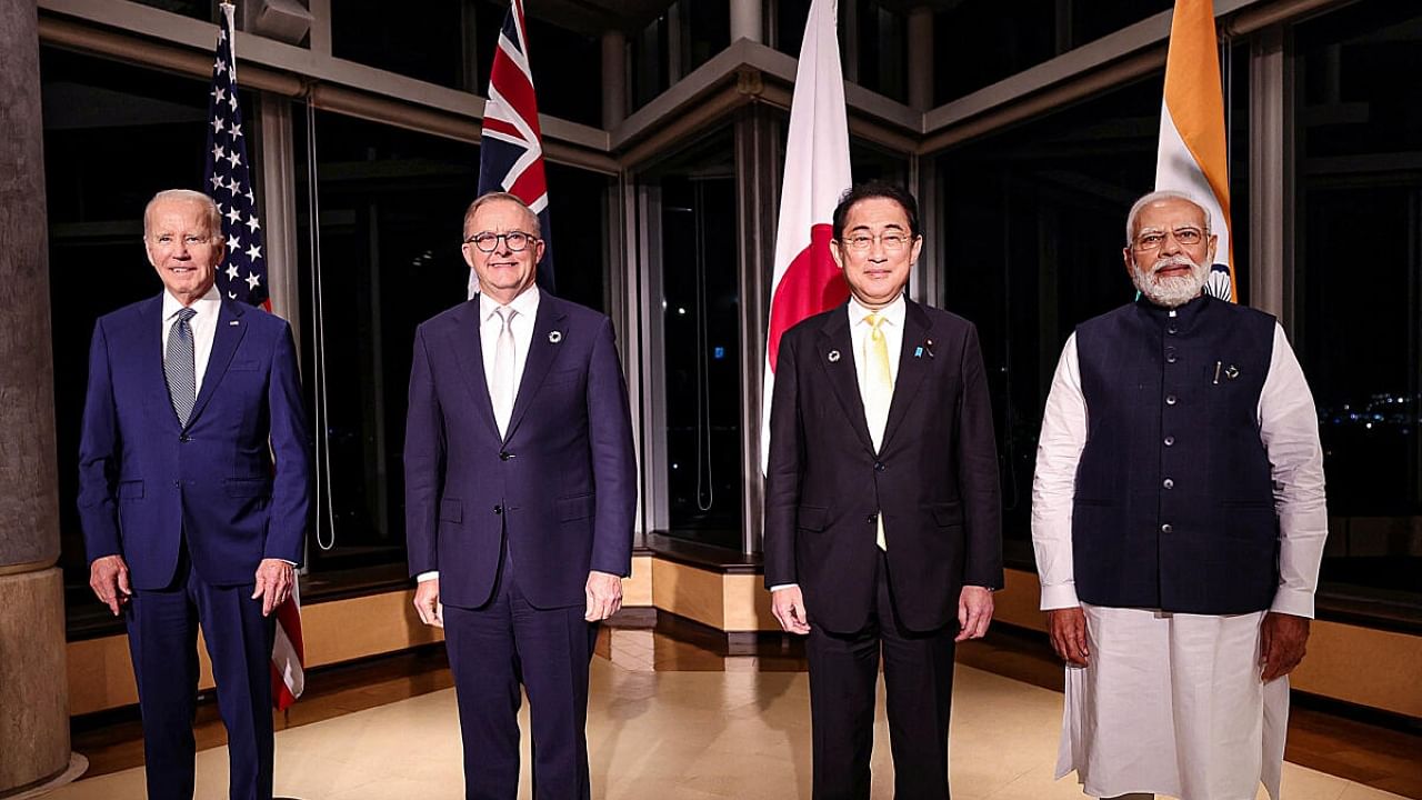
M 222 299 L 201 192 L 144 212 L 164 292 L 100 317 L 80 440 L 90 585 L 128 625 L 148 797 L 191 799 L 202 625 L 230 797 L 272 797 L 272 612 L 301 559 L 310 456 L 287 323 Z M 273 468 L 273 456 L 276 464 Z

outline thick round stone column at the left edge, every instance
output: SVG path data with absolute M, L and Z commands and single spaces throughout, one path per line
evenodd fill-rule
M 36 14 L 0 3 L 0 796 L 70 763 Z

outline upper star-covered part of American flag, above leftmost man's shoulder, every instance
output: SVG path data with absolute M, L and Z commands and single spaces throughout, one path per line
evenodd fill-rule
M 203 191 L 218 202 L 228 258 L 218 268 L 218 289 L 225 298 L 272 310 L 267 299 L 266 252 L 262 248 L 262 219 L 247 161 L 247 131 L 242 128 L 237 102 L 237 63 L 232 57 L 230 3 L 222 4 L 218 47 L 212 64 L 208 100 L 208 169 Z

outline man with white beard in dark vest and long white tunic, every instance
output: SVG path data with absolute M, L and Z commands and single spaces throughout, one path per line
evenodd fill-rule
M 1203 293 L 1209 212 L 1140 198 L 1140 299 L 1079 325 L 1047 397 L 1032 544 L 1066 660 L 1057 777 L 1094 797 L 1278 800 L 1287 675 L 1328 518 L 1313 396 L 1274 317 Z

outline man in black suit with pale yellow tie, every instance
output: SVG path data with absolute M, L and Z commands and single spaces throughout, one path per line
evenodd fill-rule
M 765 584 L 808 636 L 816 800 L 870 796 L 880 656 L 894 796 L 947 799 L 954 646 L 1003 586 L 983 354 L 970 322 L 904 298 L 913 195 L 856 185 L 832 233 L 850 298 L 781 339 Z

